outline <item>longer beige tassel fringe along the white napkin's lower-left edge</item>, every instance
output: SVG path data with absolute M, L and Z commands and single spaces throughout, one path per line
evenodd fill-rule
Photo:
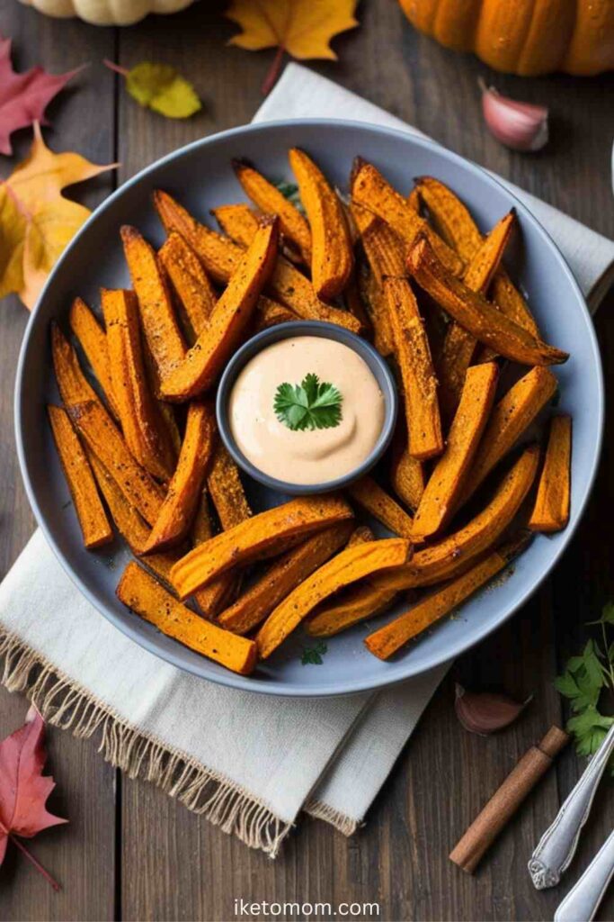
M 25 691 L 49 724 L 81 739 L 100 730 L 98 751 L 129 778 L 152 782 L 224 833 L 234 833 L 250 848 L 276 857 L 292 823 L 275 816 L 261 800 L 223 774 L 131 727 L 16 636 L 0 635 L 0 657 L 2 684 L 8 691 Z

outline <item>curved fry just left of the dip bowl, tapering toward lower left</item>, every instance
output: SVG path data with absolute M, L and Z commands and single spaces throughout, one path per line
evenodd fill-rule
M 180 458 L 144 553 L 173 547 L 190 532 L 213 455 L 214 431 L 214 409 L 200 401 L 191 403 Z

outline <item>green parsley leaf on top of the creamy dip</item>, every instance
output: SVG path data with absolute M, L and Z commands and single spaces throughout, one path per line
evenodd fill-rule
M 333 429 L 342 420 L 342 395 L 333 384 L 306 374 L 300 384 L 280 384 L 275 391 L 275 416 L 293 431 Z

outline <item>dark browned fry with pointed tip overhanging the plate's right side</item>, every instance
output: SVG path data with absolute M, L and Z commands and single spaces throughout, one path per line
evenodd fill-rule
M 437 258 L 426 237 L 420 237 L 408 256 L 408 267 L 418 284 L 446 313 L 485 346 L 521 365 L 552 365 L 567 361 L 562 349 L 549 346 L 498 311 L 479 293 L 453 276 Z

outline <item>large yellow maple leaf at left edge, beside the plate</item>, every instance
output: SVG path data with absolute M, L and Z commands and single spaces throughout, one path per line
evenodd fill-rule
M 0 297 L 17 292 L 31 309 L 66 244 L 89 209 L 64 198 L 64 186 L 110 170 L 80 154 L 55 154 L 34 124 L 29 156 L 0 183 Z

